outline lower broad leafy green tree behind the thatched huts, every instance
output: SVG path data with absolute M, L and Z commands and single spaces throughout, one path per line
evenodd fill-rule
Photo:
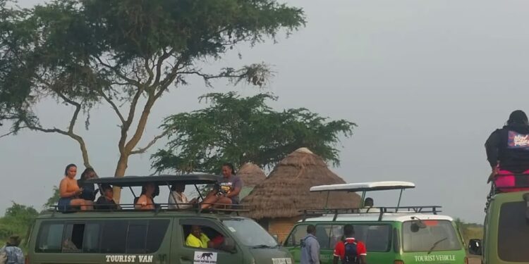
M 328 121 L 305 108 L 274 111 L 266 100 L 276 97 L 269 94 L 241 98 L 230 92 L 200 99 L 210 106 L 165 119 L 162 129 L 169 143 L 152 156 L 157 171 L 218 173 L 226 161 L 269 168 L 300 147 L 339 165 L 335 147 L 339 135 L 350 137 L 355 127 L 346 120 Z

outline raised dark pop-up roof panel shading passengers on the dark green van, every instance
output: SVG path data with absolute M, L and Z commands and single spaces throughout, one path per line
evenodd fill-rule
M 110 184 L 118 187 L 135 187 L 147 183 L 157 185 L 172 184 L 214 184 L 219 182 L 222 177 L 219 175 L 209 174 L 190 174 L 190 175 L 159 175 L 159 176 L 125 176 L 125 177 L 103 177 L 87 180 L 90 184 Z

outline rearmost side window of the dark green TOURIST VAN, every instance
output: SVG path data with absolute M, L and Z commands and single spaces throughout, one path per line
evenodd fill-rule
M 43 223 L 40 225 L 35 252 L 61 252 L 64 225 Z

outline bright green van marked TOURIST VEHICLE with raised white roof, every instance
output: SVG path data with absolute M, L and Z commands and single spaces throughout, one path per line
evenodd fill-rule
M 411 182 L 367 182 L 312 187 L 311 191 L 366 191 L 413 188 Z M 343 225 L 353 225 L 355 239 L 367 248 L 369 264 L 465 264 L 465 246 L 454 220 L 439 215 L 440 206 L 400 206 L 303 210 L 305 214 L 288 235 L 284 246 L 300 261 L 300 240 L 307 225 L 315 225 L 323 264 L 332 263 Z

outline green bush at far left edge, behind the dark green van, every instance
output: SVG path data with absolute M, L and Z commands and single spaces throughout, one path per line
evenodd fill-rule
M 25 237 L 38 214 L 32 207 L 13 202 L 13 206 L 7 208 L 4 217 L 0 218 L 0 240 L 6 241 L 13 234 Z

